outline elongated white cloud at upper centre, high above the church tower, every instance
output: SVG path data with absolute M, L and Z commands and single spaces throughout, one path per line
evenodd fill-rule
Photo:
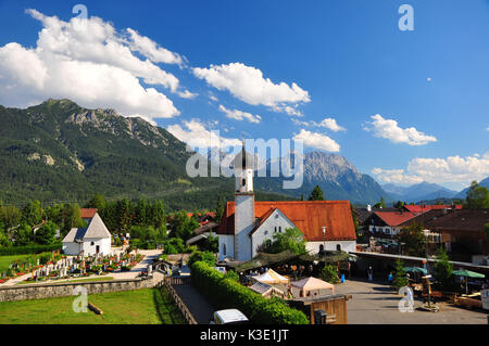
M 246 103 L 265 105 L 275 112 L 300 114 L 297 105 L 311 101 L 309 92 L 296 82 L 290 86 L 284 81 L 274 84 L 269 78 L 264 78 L 260 69 L 242 63 L 195 67 L 193 74 L 218 90 L 229 91 Z

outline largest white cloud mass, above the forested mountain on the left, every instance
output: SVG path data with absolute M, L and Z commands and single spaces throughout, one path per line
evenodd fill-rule
M 42 29 L 35 48 L 16 42 L 0 47 L 1 104 L 26 106 L 66 98 L 86 107 L 111 107 L 126 116 L 153 119 L 179 114 L 156 86 L 184 98 L 193 95 L 181 91 L 179 80 L 155 65 L 181 64 L 181 56 L 137 31 L 117 33 L 112 24 L 93 16 L 64 22 L 36 10 L 26 12 L 41 22 Z

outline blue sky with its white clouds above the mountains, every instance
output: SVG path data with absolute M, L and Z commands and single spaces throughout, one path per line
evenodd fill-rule
M 161 62 L 142 46 L 131 49 L 134 59 L 149 59 L 161 74 L 152 82 L 147 65 L 131 67 L 139 103 L 121 100 L 117 92 L 131 93 L 129 88 L 88 94 L 89 81 L 104 82 L 97 80 L 97 64 L 129 66 L 92 56 L 90 40 L 60 48 L 46 33 L 39 51 L 39 33 L 57 25 L 46 18 L 68 23 L 77 3 L 0 0 L 0 103 L 26 106 L 66 97 L 83 106 L 145 116 L 187 141 L 204 133 L 202 128 L 221 130 L 229 142 L 242 132 L 255 139 L 299 137 L 308 150 L 343 155 L 381 183 L 427 180 L 461 190 L 489 176 L 487 0 L 80 1 L 88 20 L 101 18 L 116 37 L 127 39 L 130 28 L 138 34 L 131 43 L 148 38 L 160 53 L 181 59 Z M 414 30 L 399 29 L 403 3 L 414 10 Z M 20 46 L 7 47 L 12 42 Z M 84 76 L 97 77 L 66 88 L 68 77 L 78 82 L 77 65 L 70 65 L 73 75 L 49 50 L 83 63 Z M 32 76 L 14 66 L 18 61 L 33 62 Z M 46 84 L 36 85 L 33 75 Z M 251 92 L 259 87 L 266 88 Z M 149 88 L 159 94 L 148 95 Z

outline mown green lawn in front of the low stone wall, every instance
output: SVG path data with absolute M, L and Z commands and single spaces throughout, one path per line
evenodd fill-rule
M 95 294 L 88 302 L 103 315 L 74 312 L 76 297 L 0 303 L 0 324 L 184 324 L 166 291 L 143 289 Z

